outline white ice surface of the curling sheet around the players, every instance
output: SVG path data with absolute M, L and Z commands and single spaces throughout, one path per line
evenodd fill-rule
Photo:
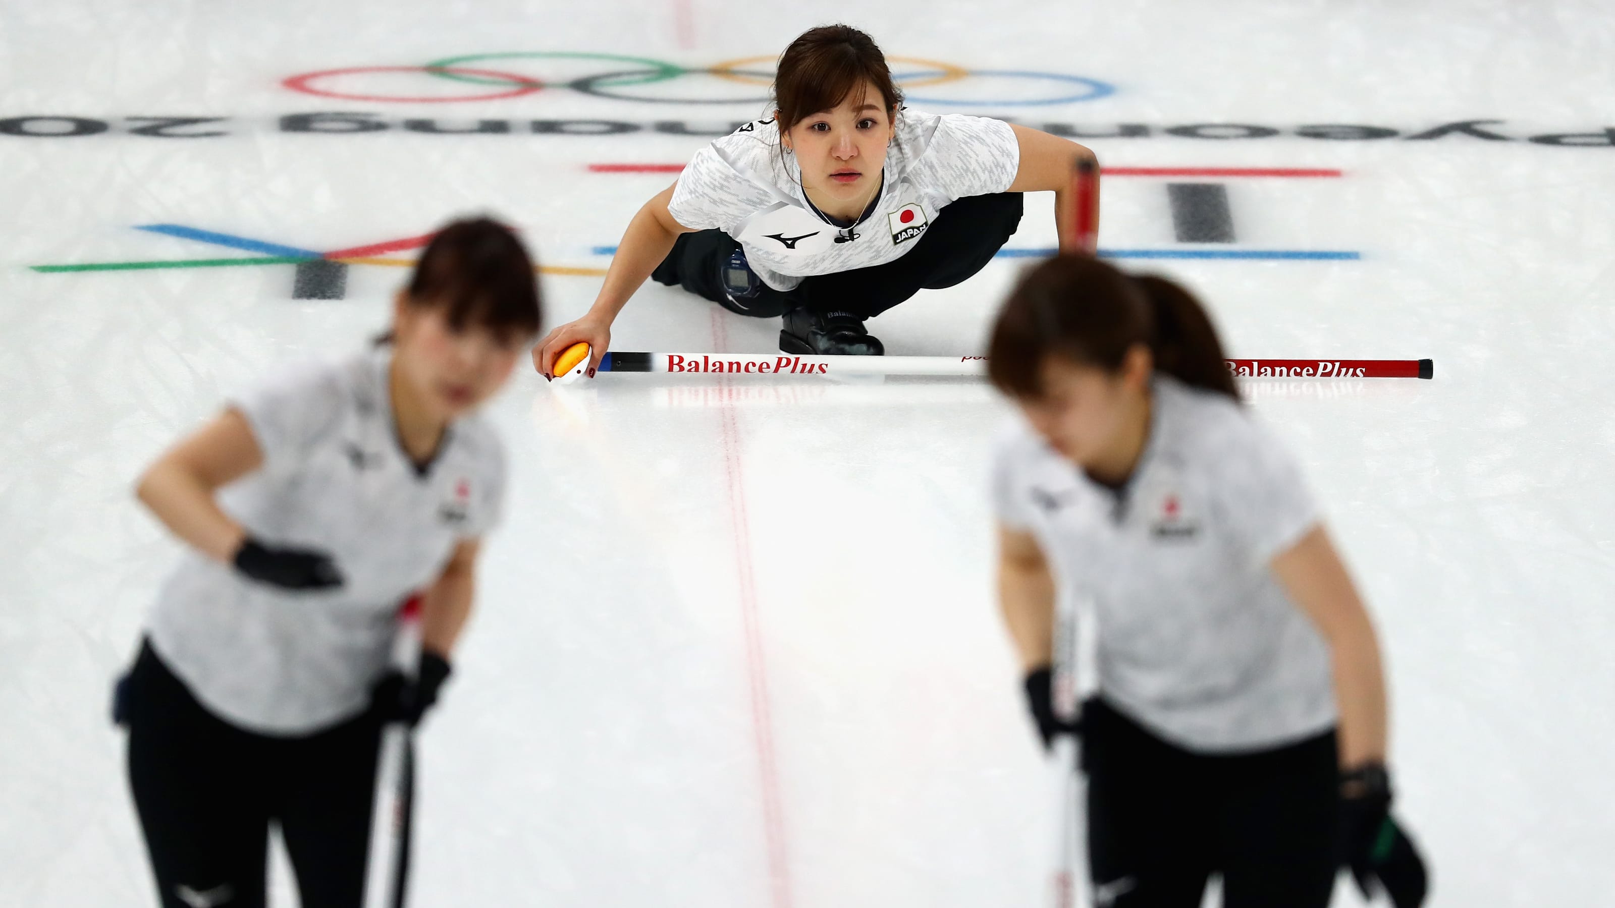
M 318 302 L 289 299 L 287 265 L 26 267 L 250 255 L 131 229 L 145 223 L 334 249 L 467 210 L 518 223 L 546 263 L 602 267 L 589 249 L 615 244 L 672 178 L 585 165 L 678 162 L 703 139 L 287 136 L 273 118 L 711 124 L 756 107 L 565 89 L 389 105 L 279 81 L 512 50 L 704 66 L 774 55 L 833 19 L 891 55 L 1118 87 L 959 108 L 1027 123 L 1615 124 L 1615 18 L 1592 2 L 3 0 L 0 120 L 212 115 L 234 134 L 0 134 L 0 905 L 152 903 L 107 688 L 176 544 L 131 483 L 226 389 L 363 343 L 404 275 L 354 267 L 347 299 Z M 409 74 L 328 84 L 444 90 Z M 988 87 L 1030 90 L 959 90 Z M 1156 270 L 1211 301 L 1235 355 L 1434 357 L 1434 381 L 1250 393 L 1305 460 L 1379 620 L 1399 809 L 1431 858 L 1433 905 L 1615 902 L 1615 149 L 1090 144 L 1110 165 L 1345 171 L 1229 191 L 1240 246 L 1361 262 Z M 1106 181 L 1105 246 L 1172 246 L 1160 183 Z M 1013 246 L 1051 241 L 1050 204 L 1032 199 Z M 979 351 L 1014 268 L 925 292 L 872 330 L 900 354 Z M 544 278 L 554 320 L 596 289 Z M 767 351 L 775 330 L 651 286 L 615 346 Z M 972 383 L 619 375 L 562 396 L 523 370 L 493 406 L 509 519 L 422 735 L 415 905 L 1037 905 L 1050 779 L 993 609 L 982 481 L 1003 412 Z M 787 872 L 770 882 L 770 868 Z M 1339 903 L 1355 900 L 1342 885 Z

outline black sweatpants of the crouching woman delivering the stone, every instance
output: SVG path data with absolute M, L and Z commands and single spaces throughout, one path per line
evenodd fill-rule
M 766 318 L 783 315 L 791 309 L 809 309 L 851 312 L 859 318 L 872 318 L 922 289 L 951 288 L 985 268 L 1014 236 L 1021 225 L 1021 210 L 1019 192 L 956 199 L 937 213 L 925 233 L 914 241 L 914 249 L 901 259 L 869 268 L 803 278 L 803 283 L 791 291 L 777 291 L 764 284 L 756 299 L 741 301 L 745 310 L 732 307 L 724 294 L 719 268 L 740 244 L 720 229 L 680 234 L 673 250 L 651 276 L 667 286 L 682 286 L 741 315 Z M 869 233 L 883 229 L 883 221 L 875 223 L 880 216 L 877 212 L 859 229 Z

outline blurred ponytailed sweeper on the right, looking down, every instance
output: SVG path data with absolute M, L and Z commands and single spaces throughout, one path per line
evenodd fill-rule
M 1195 908 L 1221 874 L 1231 908 L 1321 906 L 1344 863 L 1416 906 L 1374 628 L 1200 304 L 1061 255 L 988 364 L 1024 415 L 995 454 L 1000 599 L 1045 745 L 1080 740 L 1097 905 Z M 1098 628 L 1080 711 L 1056 709 L 1056 601 Z

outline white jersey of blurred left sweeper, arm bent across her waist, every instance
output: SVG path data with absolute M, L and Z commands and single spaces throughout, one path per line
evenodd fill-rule
M 242 394 L 263 467 L 220 506 L 270 546 L 320 549 L 344 585 L 289 591 L 186 553 L 149 622 L 152 646 L 212 711 L 263 734 L 308 734 L 360 713 L 386 670 L 399 604 L 488 532 L 504 449 L 455 422 L 418 469 L 397 441 L 391 347 L 307 365 Z

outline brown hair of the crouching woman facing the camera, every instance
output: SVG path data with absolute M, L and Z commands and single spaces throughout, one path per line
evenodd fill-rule
M 891 81 L 887 57 L 875 39 L 853 26 L 819 26 L 804 31 L 774 69 L 774 110 L 780 132 L 803 118 L 840 105 L 864 81 L 875 86 L 887 116 L 896 116 L 903 92 Z

